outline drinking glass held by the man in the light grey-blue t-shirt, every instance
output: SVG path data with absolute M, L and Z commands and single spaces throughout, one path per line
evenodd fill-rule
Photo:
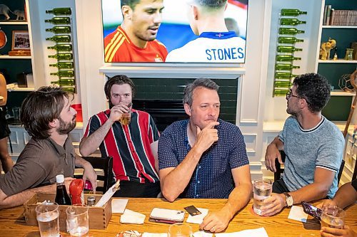
M 256 179 L 253 185 L 253 210 L 261 216 L 263 201 L 271 196 L 272 184 L 269 179 Z

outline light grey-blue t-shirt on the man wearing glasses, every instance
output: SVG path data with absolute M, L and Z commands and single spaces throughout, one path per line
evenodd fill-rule
M 333 198 L 338 189 L 337 175 L 340 169 L 345 139 L 333 122 L 322 117 L 311 130 L 303 130 L 296 117 L 288 117 L 278 135 L 284 143 L 286 160 L 283 181 L 289 191 L 296 191 L 313 183 L 317 167 L 335 172 L 327 196 Z

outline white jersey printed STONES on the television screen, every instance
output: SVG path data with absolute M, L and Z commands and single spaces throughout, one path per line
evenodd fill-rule
M 233 31 L 203 32 L 185 46 L 171 51 L 166 62 L 244 63 L 246 41 Z

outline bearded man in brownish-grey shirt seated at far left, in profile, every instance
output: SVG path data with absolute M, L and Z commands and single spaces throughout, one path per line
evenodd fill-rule
M 42 87 L 30 93 L 22 103 L 20 119 L 32 138 L 0 179 L 0 209 L 22 205 L 36 192 L 56 192 L 57 174 L 64 174 L 69 191 L 75 166 L 84 168 L 83 179 L 96 189 L 96 172 L 76 156 L 69 138 L 76 127 L 76 110 L 64 90 Z

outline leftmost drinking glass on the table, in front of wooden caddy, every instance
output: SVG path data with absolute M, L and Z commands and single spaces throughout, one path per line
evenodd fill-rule
M 59 237 L 59 204 L 39 204 L 35 210 L 41 237 Z

